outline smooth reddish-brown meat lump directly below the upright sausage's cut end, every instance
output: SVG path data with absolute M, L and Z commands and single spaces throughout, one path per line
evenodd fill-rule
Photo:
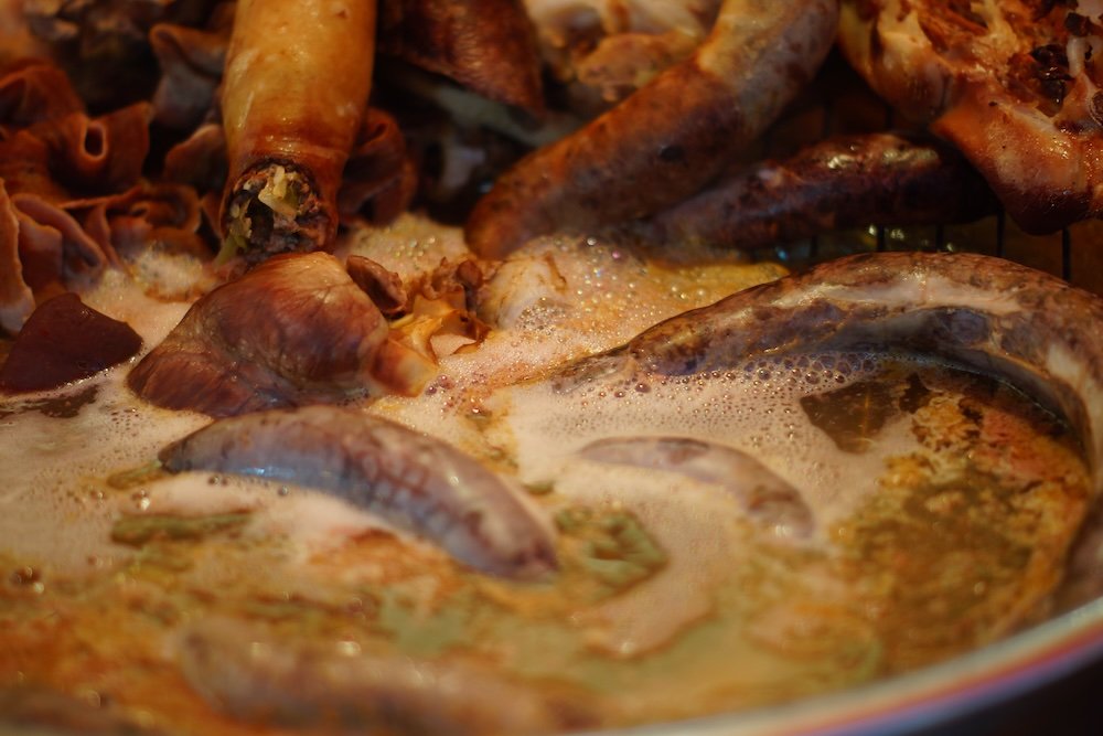
M 340 401 L 392 370 L 388 333 L 336 258 L 288 254 L 196 301 L 127 384 L 159 406 L 212 416 Z

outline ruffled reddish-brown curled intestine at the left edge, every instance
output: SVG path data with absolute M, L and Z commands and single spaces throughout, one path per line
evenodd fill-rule
M 0 72 L 0 327 L 14 333 L 35 303 L 75 279 L 119 266 L 136 243 L 196 255 L 200 206 L 184 185 L 142 177 L 151 107 L 89 115 L 64 73 L 44 61 Z

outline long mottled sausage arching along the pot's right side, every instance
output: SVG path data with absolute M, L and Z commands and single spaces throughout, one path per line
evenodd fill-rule
M 1078 431 L 1103 491 L 1103 299 L 977 254 L 869 253 L 751 287 L 564 369 L 590 381 L 728 370 L 815 350 L 939 356 L 1020 388 Z

